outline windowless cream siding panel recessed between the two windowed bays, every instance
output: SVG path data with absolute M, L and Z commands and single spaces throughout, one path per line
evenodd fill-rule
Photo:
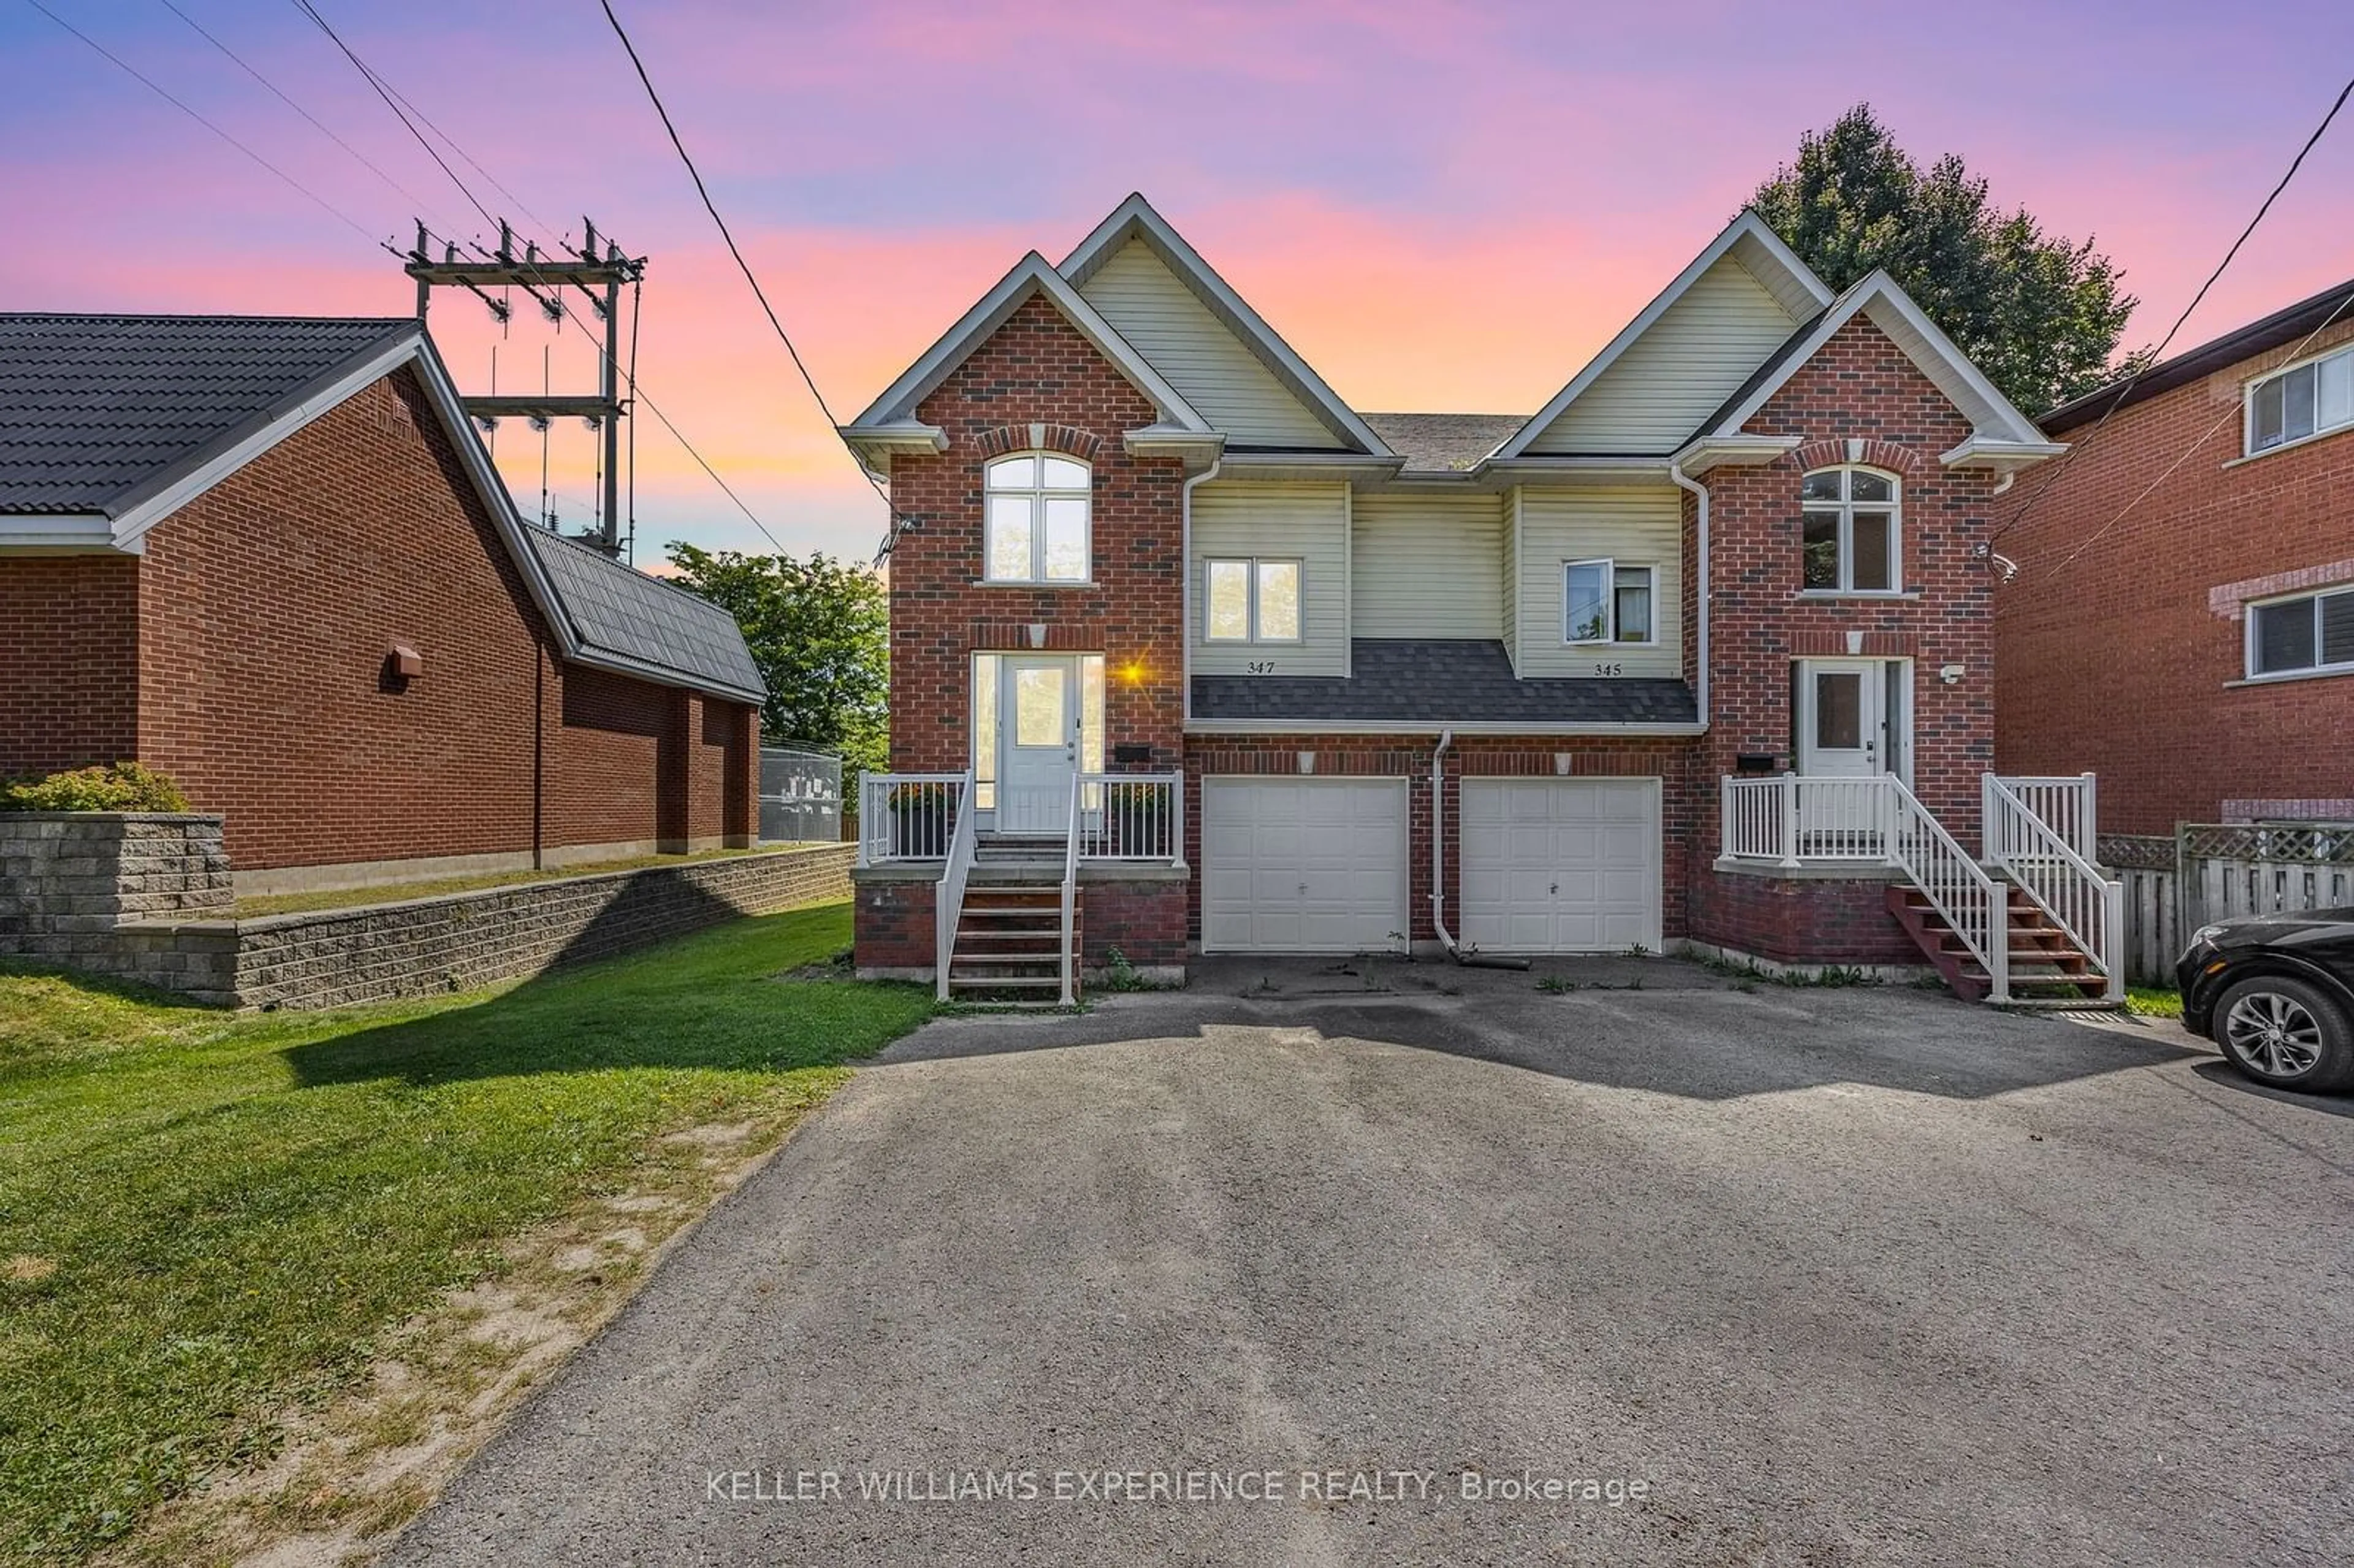
M 1356 636 L 1504 636 L 1504 511 L 1492 492 L 1356 497 Z

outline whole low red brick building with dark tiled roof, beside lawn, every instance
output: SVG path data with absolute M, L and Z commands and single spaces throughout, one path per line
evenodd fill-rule
M 160 768 L 240 890 L 532 869 L 749 845 L 760 697 L 417 320 L 0 315 L 0 775 Z

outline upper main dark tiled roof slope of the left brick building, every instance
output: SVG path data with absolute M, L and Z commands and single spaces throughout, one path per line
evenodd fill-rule
M 0 511 L 120 516 L 414 318 L 0 313 Z

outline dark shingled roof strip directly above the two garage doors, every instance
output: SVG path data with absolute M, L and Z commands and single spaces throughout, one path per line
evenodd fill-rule
M 1521 680 L 1502 643 L 1358 638 L 1354 676 L 1193 676 L 1193 718 L 1302 723 L 1695 723 L 1683 680 Z

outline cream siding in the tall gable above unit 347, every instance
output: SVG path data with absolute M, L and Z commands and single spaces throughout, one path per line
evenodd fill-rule
M 1236 445 L 1342 447 L 1144 240 L 1123 245 L 1078 292 Z

